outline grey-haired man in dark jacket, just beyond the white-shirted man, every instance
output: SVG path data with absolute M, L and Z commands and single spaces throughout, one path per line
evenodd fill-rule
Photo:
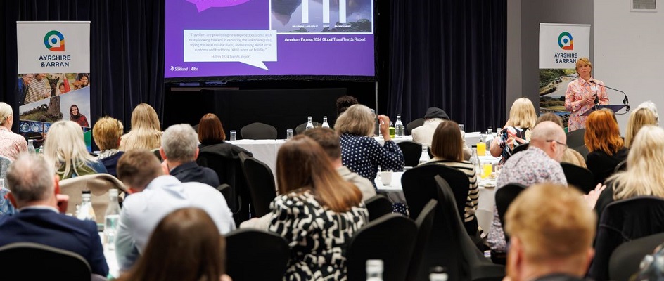
M 196 164 L 198 134 L 189 124 L 168 127 L 161 137 L 159 153 L 164 159 L 162 165 L 181 182 L 196 181 L 215 188 L 219 186 L 219 176 L 214 170 Z

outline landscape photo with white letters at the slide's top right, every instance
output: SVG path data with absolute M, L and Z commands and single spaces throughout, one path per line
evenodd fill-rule
M 372 0 L 270 0 L 272 30 L 373 33 Z

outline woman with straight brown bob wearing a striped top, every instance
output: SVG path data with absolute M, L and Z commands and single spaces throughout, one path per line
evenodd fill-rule
M 438 124 L 433 134 L 433 143 L 431 145 L 431 154 L 433 159 L 426 164 L 441 164 L 463 171 L 468 176 L 471 185 L 468 187 L 468 197 L 466 198 L 466 212 L 464 214 L 464 223 L 476 221 L 475 211 L 478 208 L 479 191 L 478 176 L 475 171 L 475 165 L 464 161 L 464 144 L 461 141 L 459 133 L 459 124 L 454 121 L 444 121 Z M 477 223 L 475 223 L 477 224 Z M 473 226 L 474 228 L 474 226 Z M 480 237 L 485 237 L 483 230 L 479 228 Z

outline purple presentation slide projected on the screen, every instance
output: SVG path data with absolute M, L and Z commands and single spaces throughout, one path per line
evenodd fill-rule
M 373 0 L 166 0 L 165 78 L 373 77 Z

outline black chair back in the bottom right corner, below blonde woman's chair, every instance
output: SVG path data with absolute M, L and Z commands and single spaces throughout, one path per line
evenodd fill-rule
M 664 242 L 664 233 L 641 237 L 620 244 L 608 261 L 608 277 L 616 281 L 628 281 L 639 271 L 641 260 Z

